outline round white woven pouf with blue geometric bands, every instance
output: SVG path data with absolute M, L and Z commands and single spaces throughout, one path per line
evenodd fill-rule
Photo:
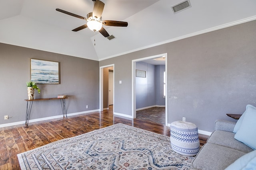
M 174 121 L 170 125 L 172 149 L 182 155 L 194 156 L 198 153 L 200 141 L 198 129 L 194 123 Z

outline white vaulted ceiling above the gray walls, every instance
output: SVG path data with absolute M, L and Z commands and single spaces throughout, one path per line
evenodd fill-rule
M 256 20 L 256 0 L 190 0 L 192 8 L 173 14 L 171 6 L 182 1 L 102 0 L 102 20 L 128 22 L 128 27 L 104 26 L 116 37 L 109 41 L 88 28 L 71 31 L 86 21 L 55 10 L 86 17 L 92 0 L 1 0 L 0 42 L 101 61 Z

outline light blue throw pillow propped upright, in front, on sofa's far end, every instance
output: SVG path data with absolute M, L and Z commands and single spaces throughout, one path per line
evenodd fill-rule
M 235 139 L 256 149 L 256 107 L 246 106 L 246 114 L 236 132 Z

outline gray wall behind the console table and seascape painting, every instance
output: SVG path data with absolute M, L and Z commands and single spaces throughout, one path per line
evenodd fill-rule
M 99 109 L 98 61 L 0 43 L 0 124 L 25 121 L 31 58 L 60 63 L 60 84 L 38 84 L 35 98 L 67 94 L 67 113 Z M 4 115 L 13 117 L 4 120 Z M 54 115 L 62 115 L 59 100 L 35 101 L 30 119 Z

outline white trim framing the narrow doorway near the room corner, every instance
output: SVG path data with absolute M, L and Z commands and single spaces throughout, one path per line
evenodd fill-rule
M 106 66 L 101 66 L 100 67 L 100 111 L 103 111 L 103 68 L 106 68 L 106 67 L 112 67 L 113 66 L 113 113 L 114 113 L 114 98 L 115 98 L 115 95 L 114 95 L 114 92 L 115 92 L 115 64 L 110 64 L 110 65 L 106 65 Z

